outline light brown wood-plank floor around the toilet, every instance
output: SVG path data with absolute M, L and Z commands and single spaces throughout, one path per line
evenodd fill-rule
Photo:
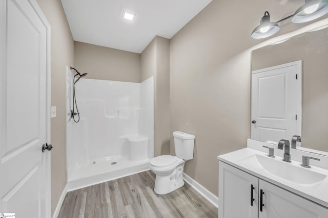
M 147 171 L 70 191 L 58 217 L 218 217 L 218 209 L 189 184 L 157 195 L 154 183 Z

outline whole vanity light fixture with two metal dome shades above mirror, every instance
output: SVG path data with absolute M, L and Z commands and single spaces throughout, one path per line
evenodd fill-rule
M 277 23 L 291 17 L 292 22 L 302 23 L 317 19 L 327 13 L 328 0 L 305 0 L 305 4 L 297 9 L 294 14 L 276 22 L 271 22 L 269 12 L 265 11 L 264 16 L 261 18 L 260 25 L 253 30 L 251 37 L 253 39 L 262 39 L 272 36 L 280 29 Z

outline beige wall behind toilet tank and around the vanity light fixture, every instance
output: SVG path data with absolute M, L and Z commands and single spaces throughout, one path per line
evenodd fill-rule
M 265 10 L 279 20 L 302 4 L 213 0 L 170 40 L 171 132 L 196 136 L 185 172 L 215 195 L 217 155 L 246 147 L 251 135 L 251 47 L 263 41 L 252 39 L 252 30 Z M 303 25 L 279 26 L 282 34 Z

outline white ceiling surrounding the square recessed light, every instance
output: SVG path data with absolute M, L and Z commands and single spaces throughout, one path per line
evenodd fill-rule
M 141 53 L 170 39 L 212 0 L 61 0 L 75 41 Z M 130 21 L 122 9 L 136 13 Z

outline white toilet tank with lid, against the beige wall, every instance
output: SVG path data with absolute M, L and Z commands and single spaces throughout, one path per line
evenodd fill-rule
M 195 136 L 181 131 L 173 132 L 173 136 L 176 156 L 183 160 L 193 159 Z

